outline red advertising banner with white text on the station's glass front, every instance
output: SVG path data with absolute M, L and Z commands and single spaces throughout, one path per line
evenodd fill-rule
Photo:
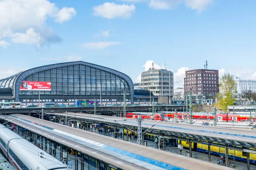
M 51 91 L 51 82 L 29 82 L 23 81 L 20 85 L 20 90 L 26 91 Z

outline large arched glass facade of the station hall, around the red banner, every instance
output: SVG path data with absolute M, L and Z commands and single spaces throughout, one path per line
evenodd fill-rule
M 67 102 L 68 99 L 98 99 L 122 101 L 131 99 L 128 82 L 122 77 L 87 65 L 69 65 L 52 68 L 29 75 L 23 81 L 51 82 L 51 91 L 40 91 L 40 99 L 52 102 Z M 20 102 L 35 102 L 39 91 L 19 91 Z M 130 98 L 129 98 L 130 96 Z M 31 101 L 32 100 L 32 101 Z M 70 100 L 68 100 L 70 101 Z M 44 102 L 44 101 L 43 101 Z

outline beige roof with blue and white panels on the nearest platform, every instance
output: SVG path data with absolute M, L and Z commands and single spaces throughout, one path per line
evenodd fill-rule
M 2 117 L 2 119 L 7 119 L 3 116 L 0 117 Z M 23 122 L 30 128 L 32 126 L 39 127 L 42 130 L 55 134 L 55 136 L 60 136 L 61 138 L 73 141 L 70 145 L 74 147 L 79 144 L 84 145 L 84 147 L 79 147 L 81 152 L 84 148 L 89 147 L 95 150 L 93 153 L 99 151 L 104 153 L 103 156 L 97 154 L 97 156 L 102 159 L 107 159 L 106 154 L 108 154 L 108 163 L 116 165 L 121 169 L 231 170 L 229 167 L 223 167 L 206 161 L 165 152 L 163 150 L 126 142 L 120 139 L 114 139 L 31 116 L 14 114 L 9 116 L 9 119 L 13 119 L 13 117 L 16 117 L 16 119 L 11 120 L 11 122 Z M 111 159 L 113 156 L 115 159 Z M 120 163 L 120 160 L 122 160 L 122 164 Z M 126 168 L 125 163 L 127 163 L 127 166 L 129 165 L 130 168 Z M 131 165 L 134 167 L 131 167 Z

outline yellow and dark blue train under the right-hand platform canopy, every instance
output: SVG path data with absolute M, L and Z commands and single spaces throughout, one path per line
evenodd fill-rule
M 146 134 L 145 140 L 153 141 L 155 140 L 155 136 L 151 134 Z M 182 140 L 176 140 L 176 139 L 171 139 L 168 138 L 168 140 L 171 140 L 172 144 L 171 146 L 177 147 L 177 144 L 182 144 L 184 148 L 189 149 L 189 142 L 187 141 L 182 141 Z M 199 144 L 199 143 L 194 143 L 191 142 L 192 144 L 192 150 L 201 152 L 201 153 L 208 153 L 208 145 L 207 144 Z M 211 155 L 215 156 L 225 156 L 226 150 L 224 147 L 217 147 L 217 146 L 210 146 L 211 150 Z M 252 149 L 255 150 L 255 149 Z M 247 162 L 247 157 L 246 153 L 239 151 L 239 150 L 233 150 L 233 149 L 228 149 L 228 154 L 229 158 L 236 159 L 236 161 L 241 161 L 241 162 Z M 250 153 L 250 164 L 256 164 L 256 154 L 255 153 Z

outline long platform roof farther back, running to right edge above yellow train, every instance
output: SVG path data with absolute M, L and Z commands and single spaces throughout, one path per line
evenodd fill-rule
M 51 114 L 51 113 L 50 113 Z M 65 113 L 53 113 L 64 116 Z M 84 119 L 95 123 L 104 123 L 105 125 L 133 127 L 137 125 L 137 119 L 113 117 L 113 116 L 99 116 L 85 113 L 68 113 L 69 117 L 73 119 Z M 152 126 L 152 127 L 151 127 Z M 247 147 L 256 149 L 256 131 L 232 129 L 224 127 L 212 127 L 201 125 L 190 125 L 184 123 L 173 122 L 157 122 L 143 119 L 142 128 L 148 130 L 151 127 L 151 133 L 163 133 L 172 136 L 180 136 L 184 139 L 195 139 L 200 141 L 216 142 L 218 144 L 227 144 L 237 147 Z

